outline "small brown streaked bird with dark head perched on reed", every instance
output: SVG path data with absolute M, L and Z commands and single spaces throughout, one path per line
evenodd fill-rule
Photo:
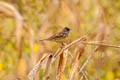
M 39 41 L 44 41 L 44 40 L 47 40 L 47 41 L 55 41 L 57 43 L 63 43 L 62 41 L 68 37 L 69 35 L 69 31 L 70 31 L 70 28 L 68 27 L 65 27 L 61 32 L 47 38 L 47 39 L 43 39 L 43 40 L 39 40 Z

